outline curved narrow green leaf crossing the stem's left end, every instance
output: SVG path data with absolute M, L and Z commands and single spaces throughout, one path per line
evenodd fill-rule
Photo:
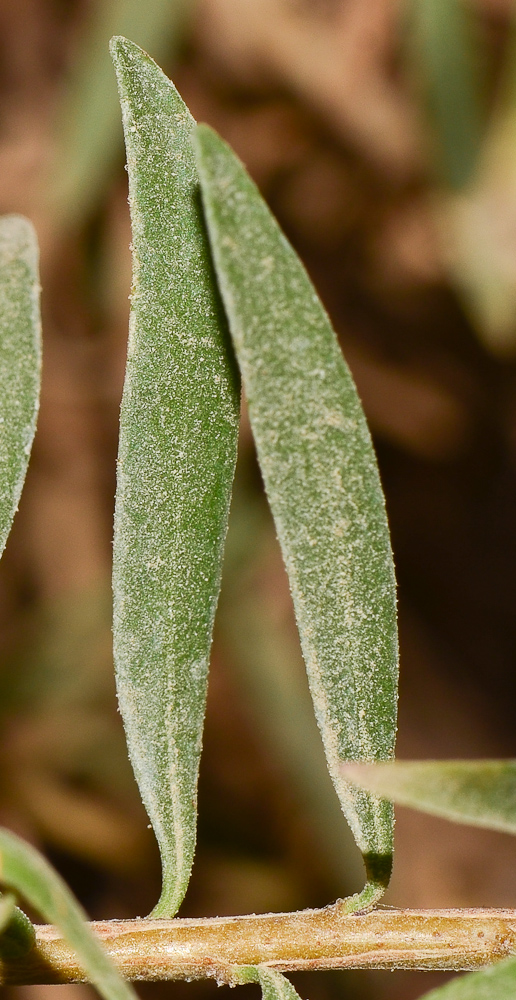
M 137 1000 L 94 937 L 87 917 L 60 875 L 30 844 L 0 829 L 0 882 L 20 893 L 75 950 L 85 978 L 105 1000 Z

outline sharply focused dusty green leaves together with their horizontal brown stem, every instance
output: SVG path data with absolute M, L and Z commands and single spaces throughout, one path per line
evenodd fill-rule
M 106 998 L 130 997 L 114 959 L 127 978 L 214 976 L 232 985 L 257 982 L 265 1000 L 295 1000 L 283 976 L 289 969 L 467 969 L 510 956 L 516 918 L 505 912 L 376 908 L 392 865 L 391 799 L 514 832 L 514 762 L 392 760 L 394 569 L 371 439 L 335 334 L 231 149 L 196 126 L 138 46 L 117 37 L 112 55 L 134 265 L 115 512 L 114 651 L 129 757 L 161 852 L 162 892 L 147 920 L 101 923 L 95 936 L 47 862 L 0 830 L 0 879 L 10 890 L 0 901 L 2 973 L 16 982 L 89 978 Z M 3 220 L 3 542 L 37 411 L 36 258 L 31 227 Z M 181 921 L 174 918 L 195 848 L 240 378 L 326 763 L 366 884 L 323 910 Z M 300 754 L 296 769 L 299 761 Z M 57 930 L 35 932 L 14 894 Z M 504 1000 L 515 986 L 516 959 L 507 957 L 431 995 Z

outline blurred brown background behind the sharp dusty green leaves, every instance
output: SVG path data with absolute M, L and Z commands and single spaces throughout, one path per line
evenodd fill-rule
M 0 211 L 36 224 L 44 318 L 38 432 L 0 567 L 0 822 L 44 849 L 96 918 L 144 915 L 159 892 L 110 650 L 130 285 L 113 33 L 147 48 L 233 144 L 341 338 L 393 533 L 399 755 L 515 756 L 511 0 L 0 0 Z M 400 810 L 386 902 L 513 906 L 515 860 L 508 836 Z M 361 877 L 244 418 L 181 914 L 324 905 Z M 410 1000 L 441 980 L 295 981 L 310 1000 Z M 88 992 L 9 1000 L 50 989 Z

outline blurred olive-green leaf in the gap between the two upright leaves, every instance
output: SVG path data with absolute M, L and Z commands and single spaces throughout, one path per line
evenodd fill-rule
M 217 610 L 222 655 L 227 650 L 228 667 L 242 688 L 265 752 L 277 758 L 306 816 L 329 884 L 348 894 L 362 878 L 361 859 L 328 774 L 290 616 L 271 614 L 269 581 L 277 566 L 274 525 L 256 492 L 254 476 L 252 488 L 246 480 L 237 465 Z

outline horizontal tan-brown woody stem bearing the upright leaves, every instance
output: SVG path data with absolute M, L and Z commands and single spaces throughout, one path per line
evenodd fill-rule
M 264 964 L 316 969 L 476 969 L 516 951 L 516 910 L 396 910 L 346 915 L 341 904 L 297 913 L 175 920 L 95 921 L 93 931 L 132 980 L 234 983 L 235 969 Z M 72 949 L 50 925 L 36 928 L 23 960 L 0 961 L 0 981 L 84 982 Z

